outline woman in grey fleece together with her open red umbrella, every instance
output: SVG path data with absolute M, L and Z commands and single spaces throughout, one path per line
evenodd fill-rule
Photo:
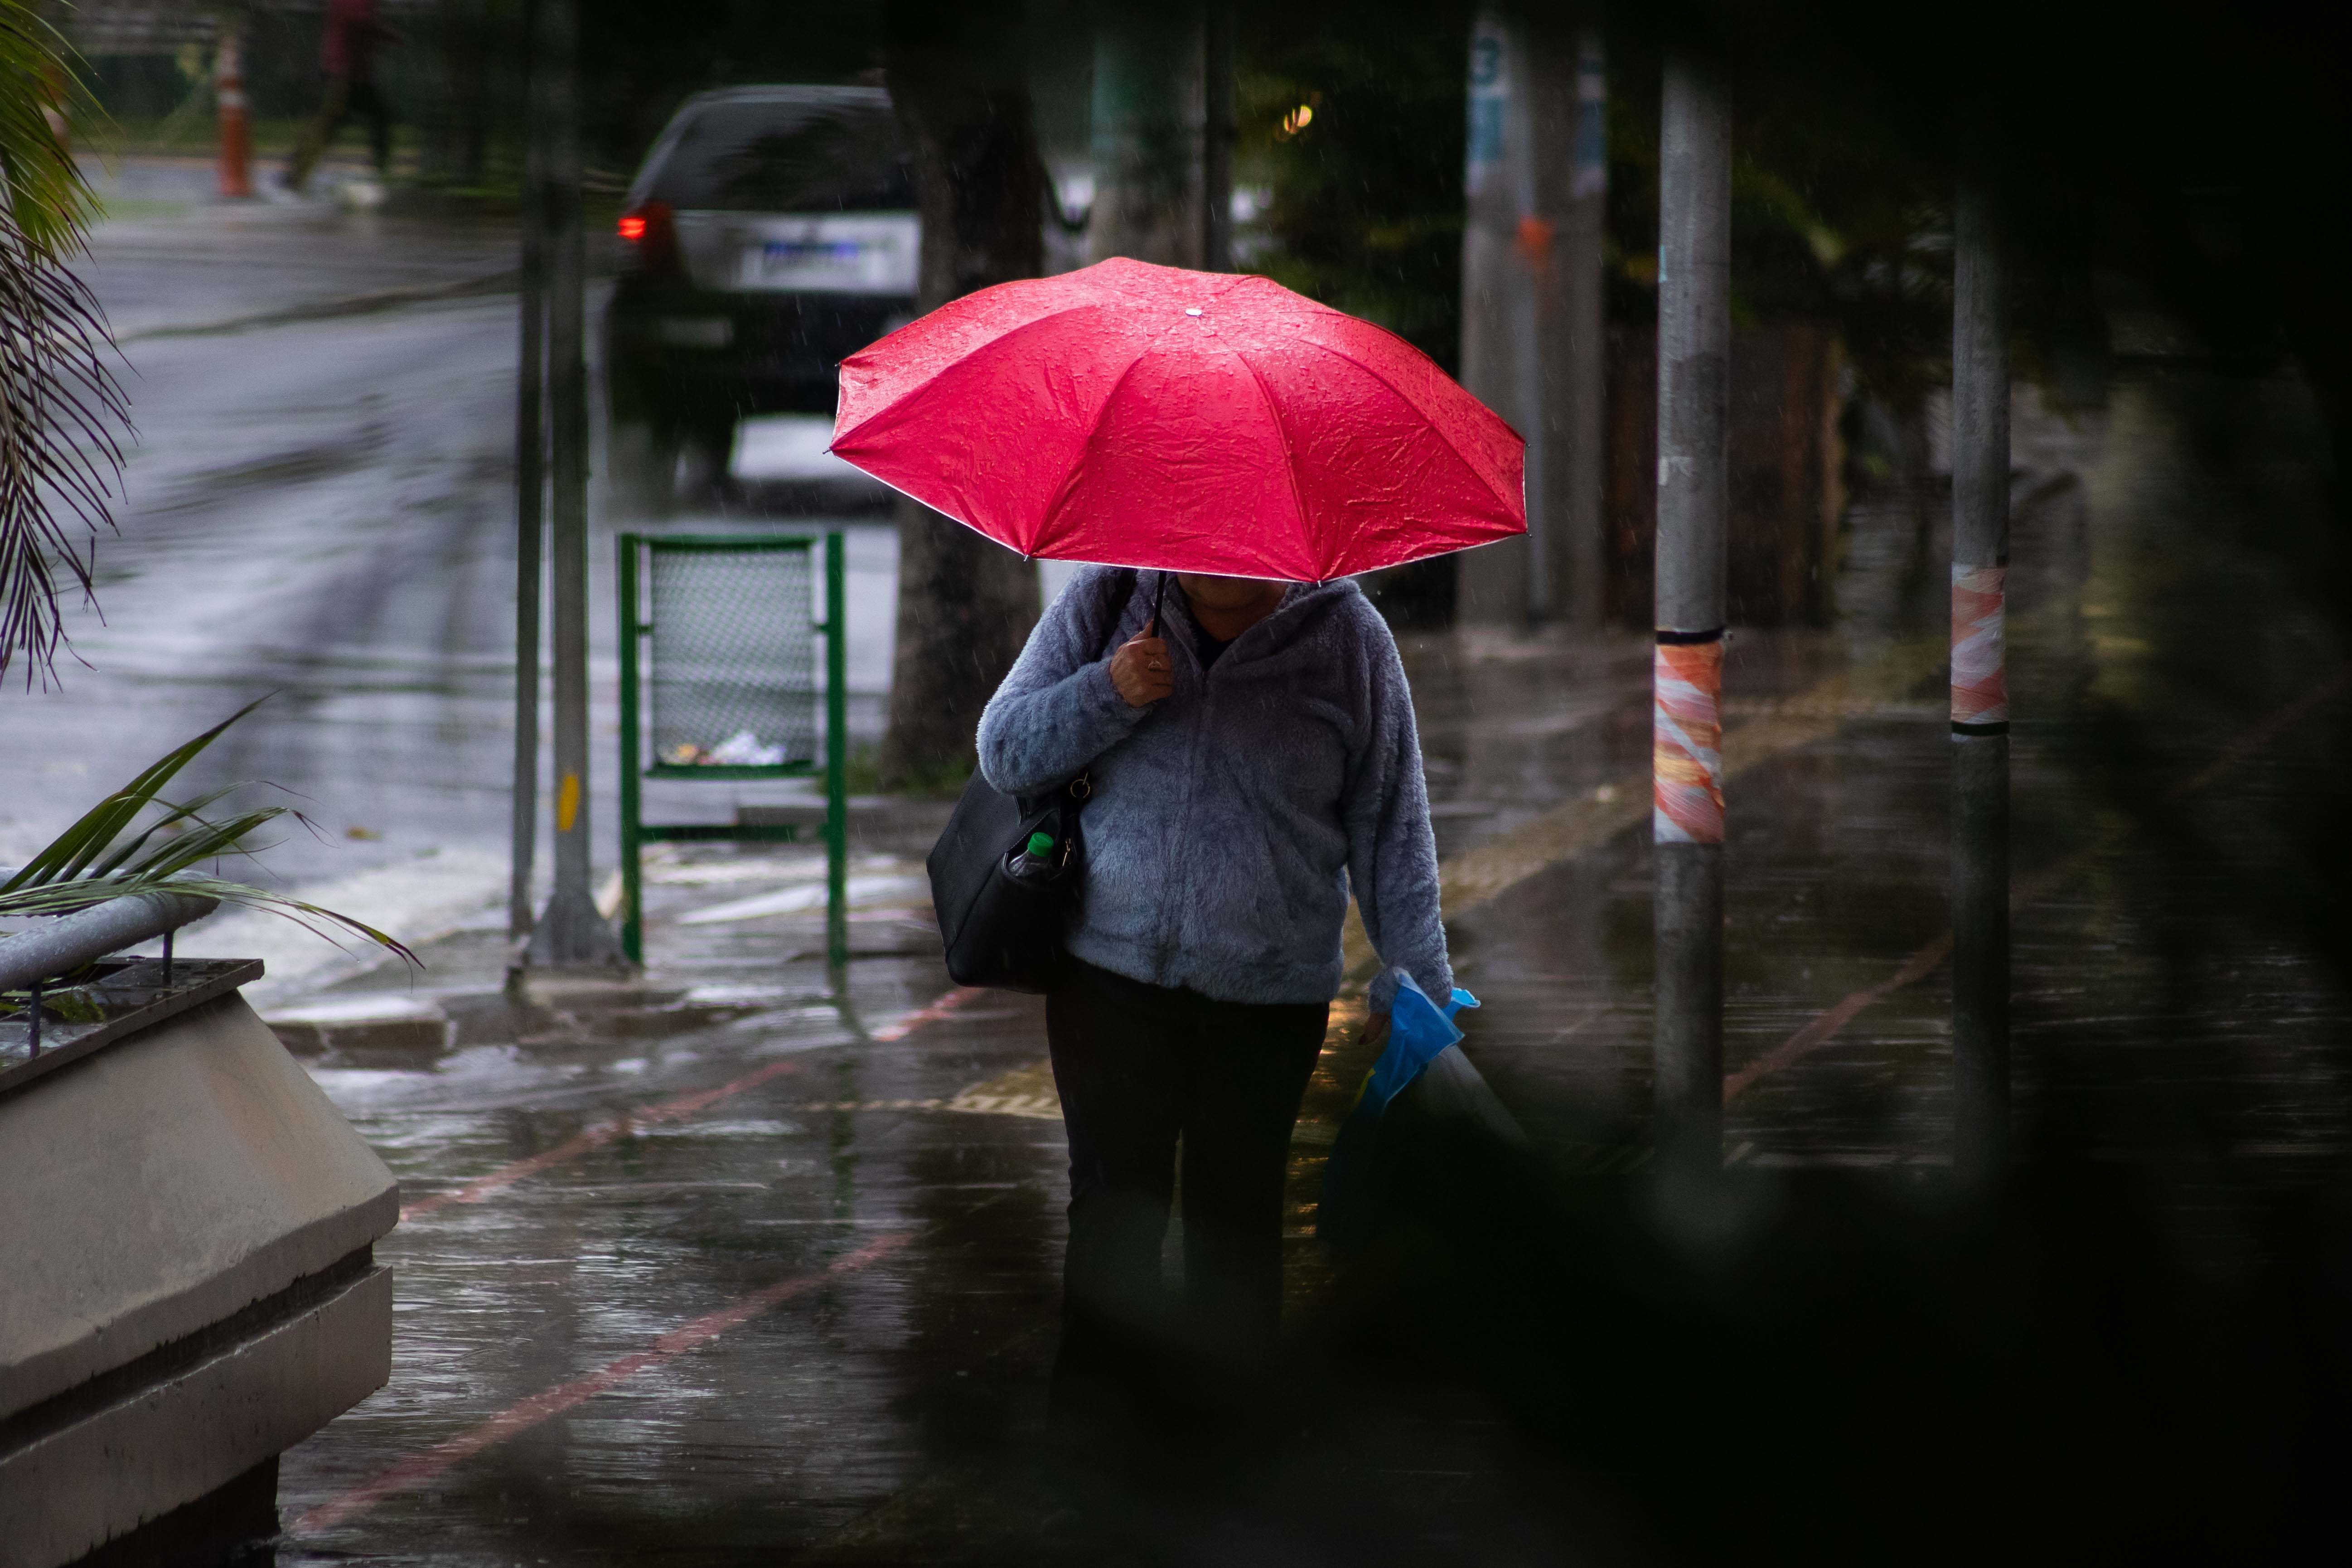
M 833 451 L 1023 555 L 1094 562 L 978 759 L 1007 795 L 1091 773 L 1047 997 L 1070 1138 L 1054 1420 L 1155 1429 L 1178 1143 L 1178 1368 L 1261 1387 L 1350 896 L 1385 966 L 1374 1027 L 1404 976 L 1451 994 L 1411 689 L 1350 574 L 1524 531 L 1519 437 L 1404 341 L 1263 277 L 1105 261 L 844 362 Z

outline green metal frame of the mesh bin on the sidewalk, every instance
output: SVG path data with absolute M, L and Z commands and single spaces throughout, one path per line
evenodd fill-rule
M 797 844 L 800 823 L 647 823 L 640 780 L 644 778 L 804 778 L 809 762 L 781 764 L 644 764 L 644 639 L 654 635 L 647 618 L 642 562 L 661 550 L 677 552 L 826 552 L 826 618 L 809 630 L 826 639 L 826 959 L 849 961 L 849 693 L 847 693 L 847 588 L 842 576 L 842 534 L 621 534 L 621 950 L 630 964 L 644 961 L 644 844 Z

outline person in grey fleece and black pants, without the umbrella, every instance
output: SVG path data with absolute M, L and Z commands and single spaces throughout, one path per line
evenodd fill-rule
M 1352 578 L 1087 567 L 990 701 L 978 752 L 1011 795 L 1094 785 L 1047 994 L 1070 1135 L 1054 1427 L 1087 1458 L 1129 1434 L 1197 1453 L 1249 1429 L 1272 1371 L 1291 1124 L 1350 891 L 1390 966 L 1376 1030 L 1402 976 L 1454 985 L 1404 665 Z M 1185 1269 L 1167 1314 L 1178 1138 Z

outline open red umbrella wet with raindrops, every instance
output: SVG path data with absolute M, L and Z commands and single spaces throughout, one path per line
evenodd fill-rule
M 1021 555 L 1319 583 L 1526 531 L 1526 442 L 1265 277 L 1101 261 L 842 360 L 833 454 Z

